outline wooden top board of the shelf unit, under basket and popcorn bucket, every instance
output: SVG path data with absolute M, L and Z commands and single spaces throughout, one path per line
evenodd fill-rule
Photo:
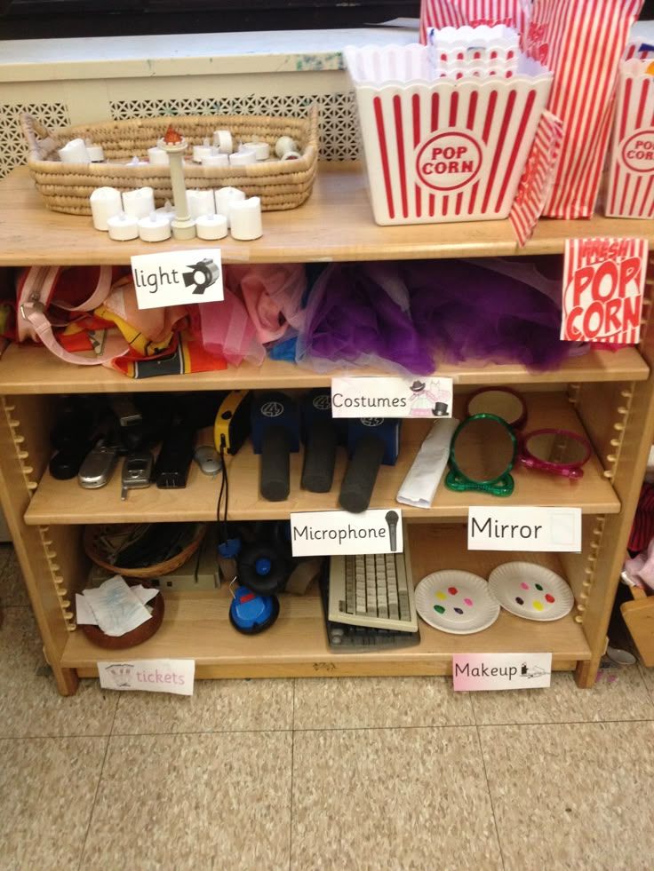
M 0 265 L 128 264 L 130 257 L 173 250 L 219 247 L 224 263 L 307 263 L 332 260 L 393 260 L 423 257 L 502 257 L 561 253 L 566 239 L 645 236 L 651 221 L 593 218 L 538 222 L 520 249 L 507 220 L 454 224 L 377 226 L 357 162 L 320 164 L 314 191 L 299 209 L 264 214 L 264 235 L 255 242 L 202 240 L 114 242 L 93 229 L 90 217 L 47 210 L 27 167 L 0 182 Z

